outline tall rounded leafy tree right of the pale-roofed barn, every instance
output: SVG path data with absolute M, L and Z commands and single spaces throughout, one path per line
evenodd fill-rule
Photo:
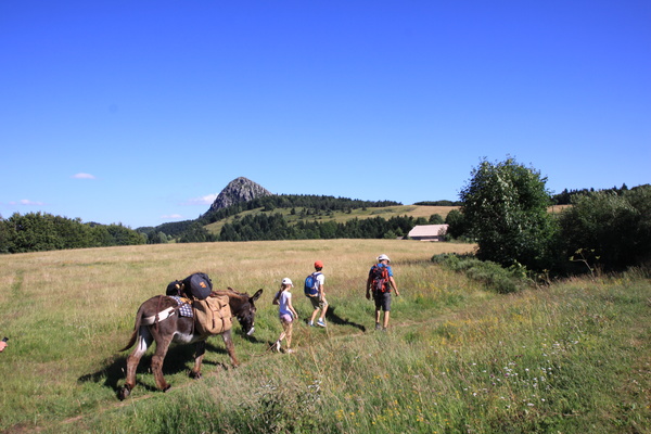
M 547 178 L 513 158 L 473 168 L 461 190 L 463 220 L 478 244 L 477 257 L 503 266 L 549 266 L 554 224 L 547 212 Z

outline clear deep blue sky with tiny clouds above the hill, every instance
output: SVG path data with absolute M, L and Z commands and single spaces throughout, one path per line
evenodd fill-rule
M 457 200 L 482 157 L 651 182 L 651 2 L 2 1 L 0 215 Z

